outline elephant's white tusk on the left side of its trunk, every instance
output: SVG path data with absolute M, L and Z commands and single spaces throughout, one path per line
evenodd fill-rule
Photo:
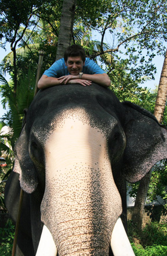
M 37 254 L 35 256 L 46 256 L 46 255 L 56 256 L 57 248 L 48 227 L 43 225 L 41 239 L 39 241 Z

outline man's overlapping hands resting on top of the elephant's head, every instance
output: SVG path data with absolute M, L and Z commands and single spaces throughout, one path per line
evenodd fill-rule
M 72 74 L 68 74 L 68 76 L 61 76 L 57 80 L 60 81 L 60 84 L 81 84 L 82 86 L 90 86 L 92 81 L 79 79 L 78 76 L 72 76 Z

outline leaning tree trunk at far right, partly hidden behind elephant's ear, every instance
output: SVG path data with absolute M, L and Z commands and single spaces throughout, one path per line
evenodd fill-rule
M 167 51 L 164 59 L 164 65 L 162 67 L 161 78 L 158 86 L 157 99 L 155 102 L 154 115 L 158 122 L 161 123 L 164 118 L 164 110 L 167 98 Z M 132 222 L 141 230 L 144 214 L 144 205 L 146 202 L 148 186 L 151 179 L 152 171 L 147 173 L 146 176 L 141 179 L 139 184 L 139 190 L 137 191 L 135 207 L 133 208 Z

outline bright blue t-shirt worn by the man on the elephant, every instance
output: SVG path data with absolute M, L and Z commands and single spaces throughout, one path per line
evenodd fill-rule
M 92 59 L 86 58 L 85 65 L 83 66 L 82 72 L 84 74 L 103 74 L 105 73 L 103 69 L 101 69 Z M 67 76 L 70 74 L 67 70 L 66 63 L 64 58 L 59 59 L 49 69 L 45 70 L 43 73 L 49 77 L 61 77 Z

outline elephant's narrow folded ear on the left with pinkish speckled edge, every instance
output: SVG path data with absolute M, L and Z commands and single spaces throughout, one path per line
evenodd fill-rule
M 38 185 L 35 166 L 28 151 L 28 136 L 24 125 L 20 137 L 14 146 L 15 161 L 13 172 L 19 173 L 21 189 L 32 193 Z

